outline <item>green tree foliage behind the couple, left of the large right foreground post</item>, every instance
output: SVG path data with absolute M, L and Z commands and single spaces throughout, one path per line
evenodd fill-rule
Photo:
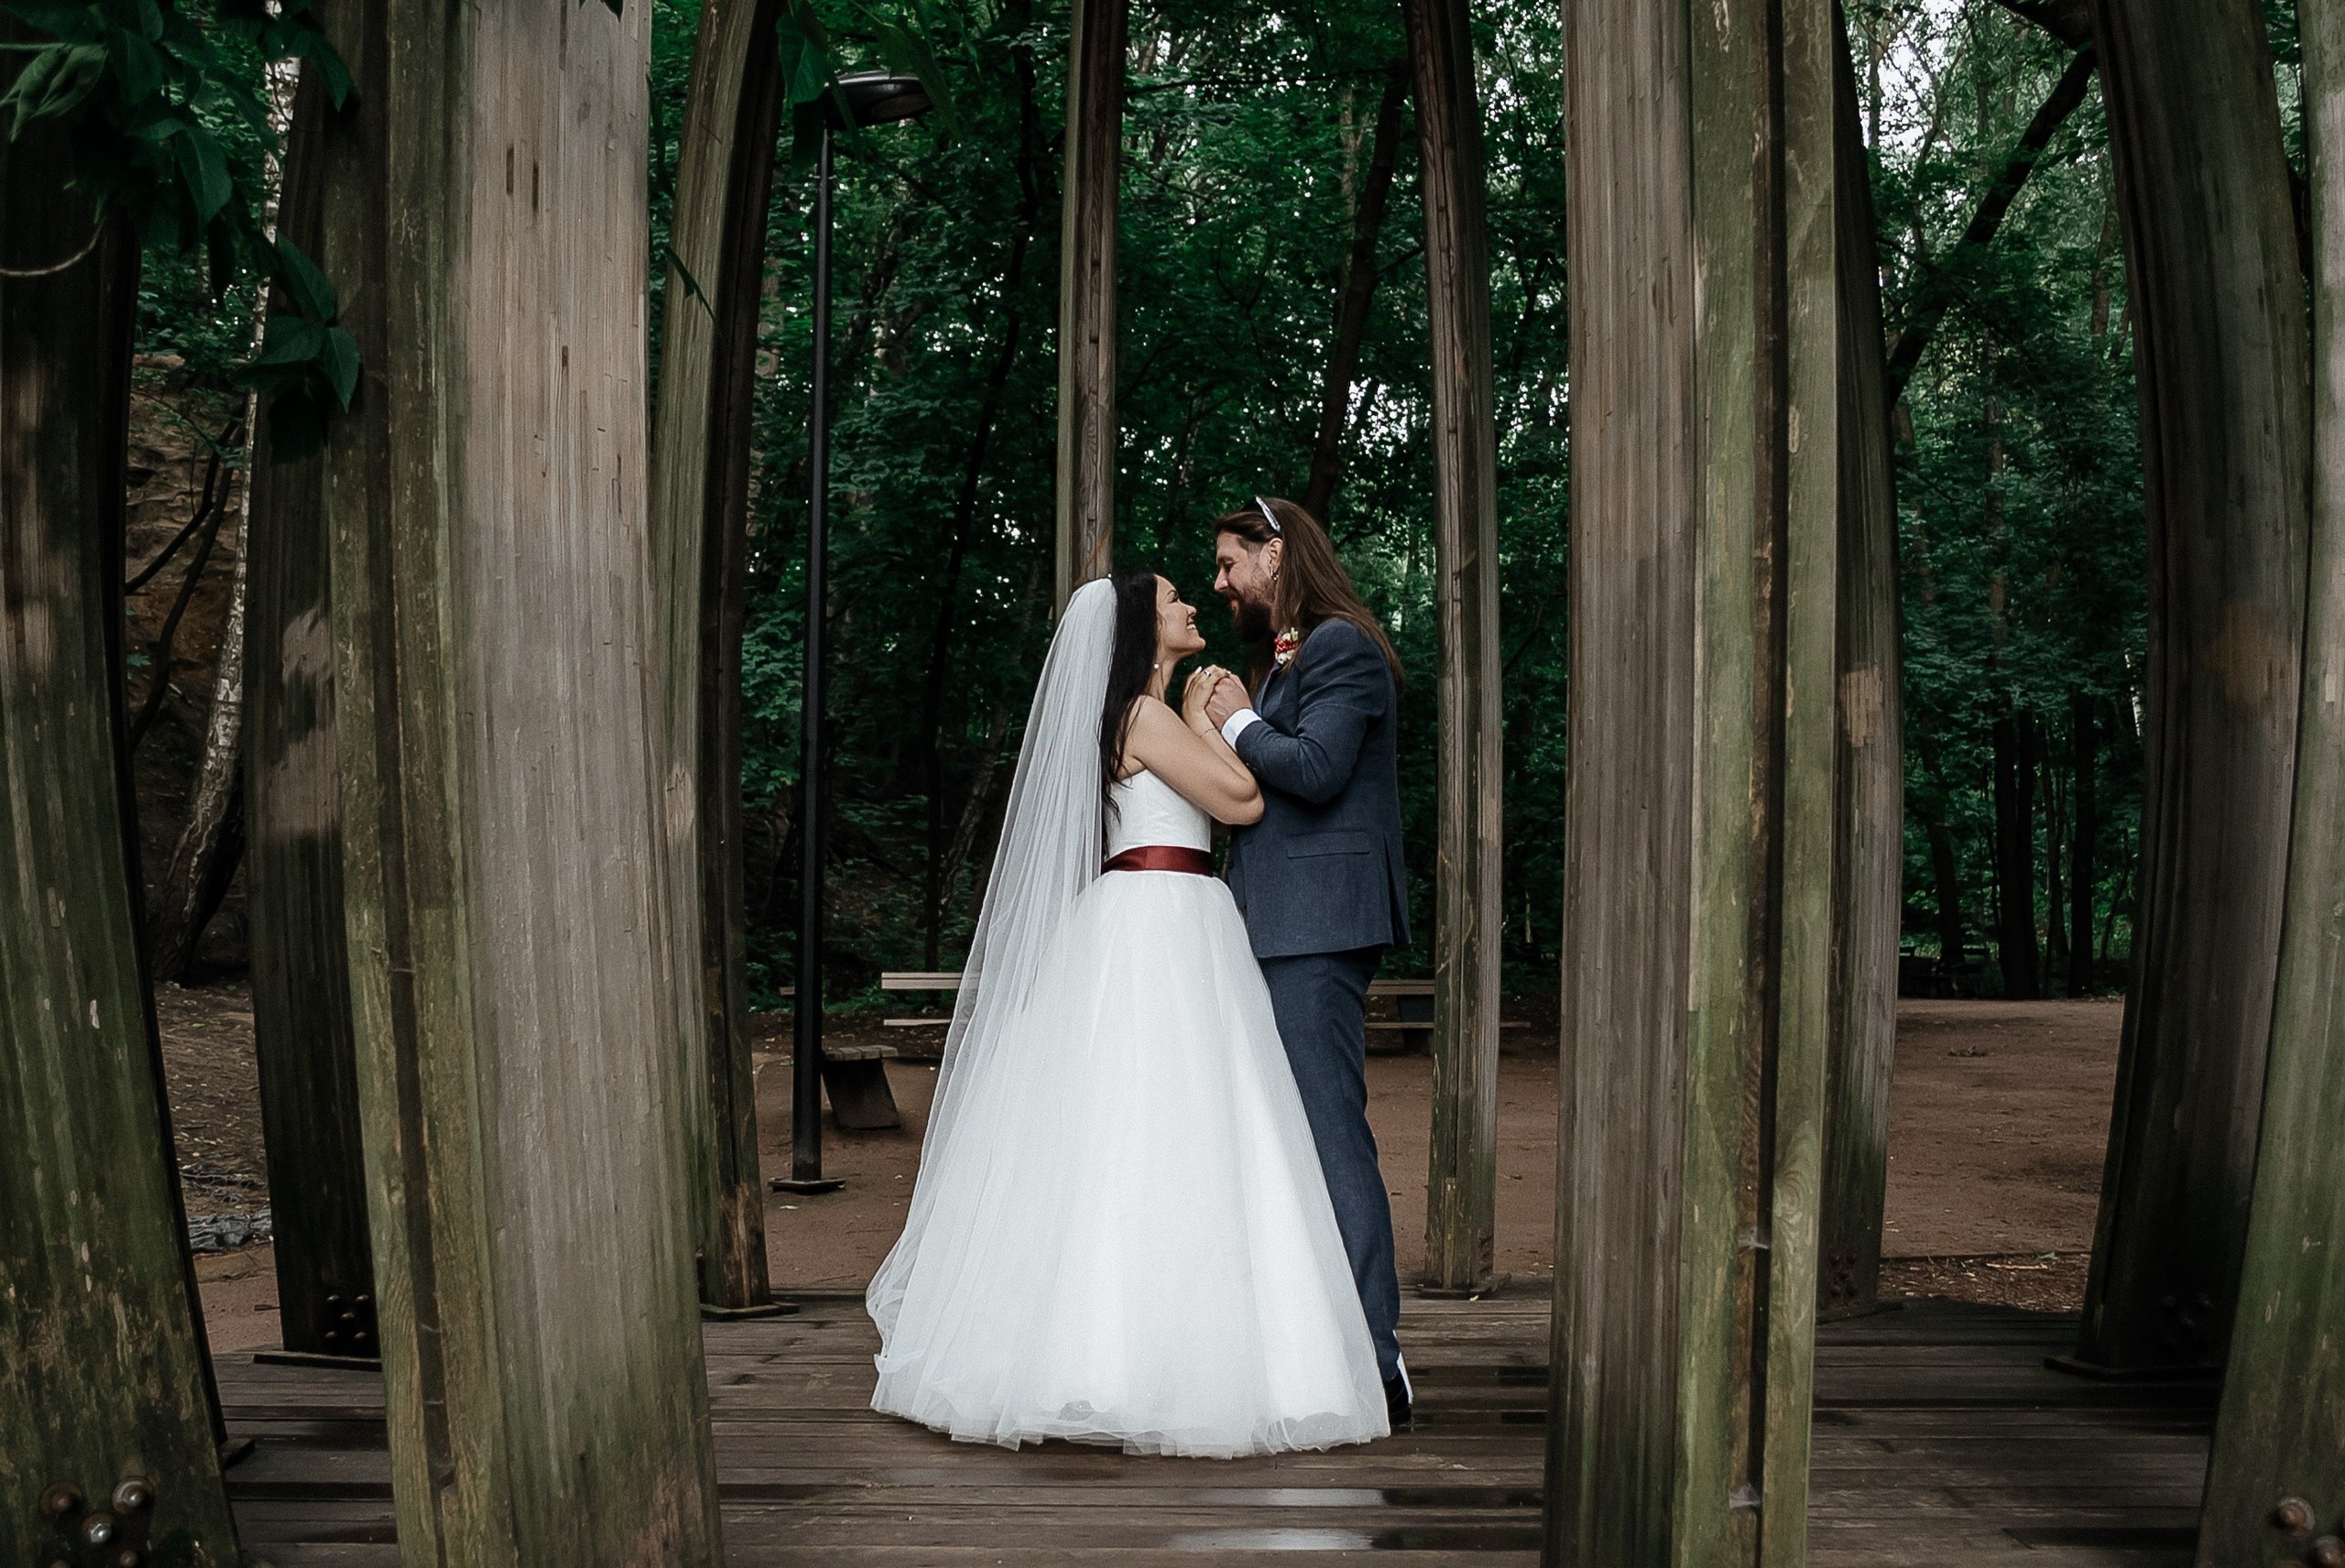
M 1224 661 L 1236 645 L 1210 598 L 1212 518 L 1255 492 L 1304 492 L 1372 124 L 1402 61 L 1398 7 L 1323 12 L 1170 0 L 1133 14 L 1116 553 L 1203 605 L 1217 638 L 1208 656 Z M 884 63 L 865 21 L 847 7 L 823 16 L 844 63 Z M 680 84 L 692 7 L 661 5 L 654 19 L 654 84 Z M 1065 16 L 999 0 L 924 21 L 957 131 L 929 120 L 840 141 L 830 940 L 849 980 L 931 952 L 959 959 L 1051 633 Z M 1503 420 L 1508 935 L 1536 987 L 1555 954 L 1564 738 L 1562 42 L 1534 9 L 1494 19 L 1480 45 Z M 664 157 L 673 150 L 654 150 L 654 183 Z M 746 654 L 750 921 L 767 989 L 788 982 L 795 907 L 809 213 L 811 183 L 786 178 L 769 239 Z M 1423 928 L 1435 649 L 1421 244 L 1402 122 L 1330 511 L 1412 673 L 1402 788 Z M 1421 966 L 1423 952 L 1398 963 Z

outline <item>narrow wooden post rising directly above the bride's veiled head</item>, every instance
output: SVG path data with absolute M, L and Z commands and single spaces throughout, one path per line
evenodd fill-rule
M 1116 211 L 1128 0 L 1074 0 L 1058 251 L 1058 602 L 1116 565 Z

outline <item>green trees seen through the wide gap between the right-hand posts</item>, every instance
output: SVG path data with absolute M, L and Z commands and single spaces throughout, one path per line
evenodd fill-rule
M 2089 970 L 2113 984 L 2141 811 L 2146 563 L 2099 89 L 2052 134 L 1993 239 L 1960 244 L 2071 49 L 1984 0 L 1860 2 L 1850 30 L 1892 342 L 1944 302 L 1895 420 L 1909 940 L 1937 952 L 1958 919 L 1965 954 L 1996 959 L 1989 989 L 2021 989 L 2021 956 L 1996 942 L 1996 912 L 2017 900 L 2047 949 L 2038 984 L 2059 991 L 2089 797 Z M 2094 750 L 2082 792 L 2080 720 Z

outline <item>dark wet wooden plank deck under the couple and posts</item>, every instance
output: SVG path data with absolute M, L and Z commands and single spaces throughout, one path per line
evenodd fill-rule
M 1536 1563 L 1543 1298 L 1407 1301 L 1414 1432 L 1236 1463 L 1011 1453 L 875 1416 L 861 1301 L 800 1301 L 708 1324 L 736 1568 Z M 2073 1336 L 2068 1317 L 1942 1301 L 1827 1327 L 1808 1561 L 2188 1566 L 2214 1392 L 2045 1371 Z M 392 1568 L 380 1383 L 218 1364 L 230 1432 L 258 1439 L 230 1472 L 246 1547 L 277 1568 Z

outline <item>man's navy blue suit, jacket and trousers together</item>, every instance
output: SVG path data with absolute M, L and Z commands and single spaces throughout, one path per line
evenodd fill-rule
M 1400 1371 L 1393 1205 L 1367 1127 L 1367 982 L 1409 940 L 1393 670 L 1351 621 L 1323 621 L 1255 694 L 1238 757 L 1262 820 L 1229 846 L 1229 891 L 1271 987 L 1377 1366 Z

